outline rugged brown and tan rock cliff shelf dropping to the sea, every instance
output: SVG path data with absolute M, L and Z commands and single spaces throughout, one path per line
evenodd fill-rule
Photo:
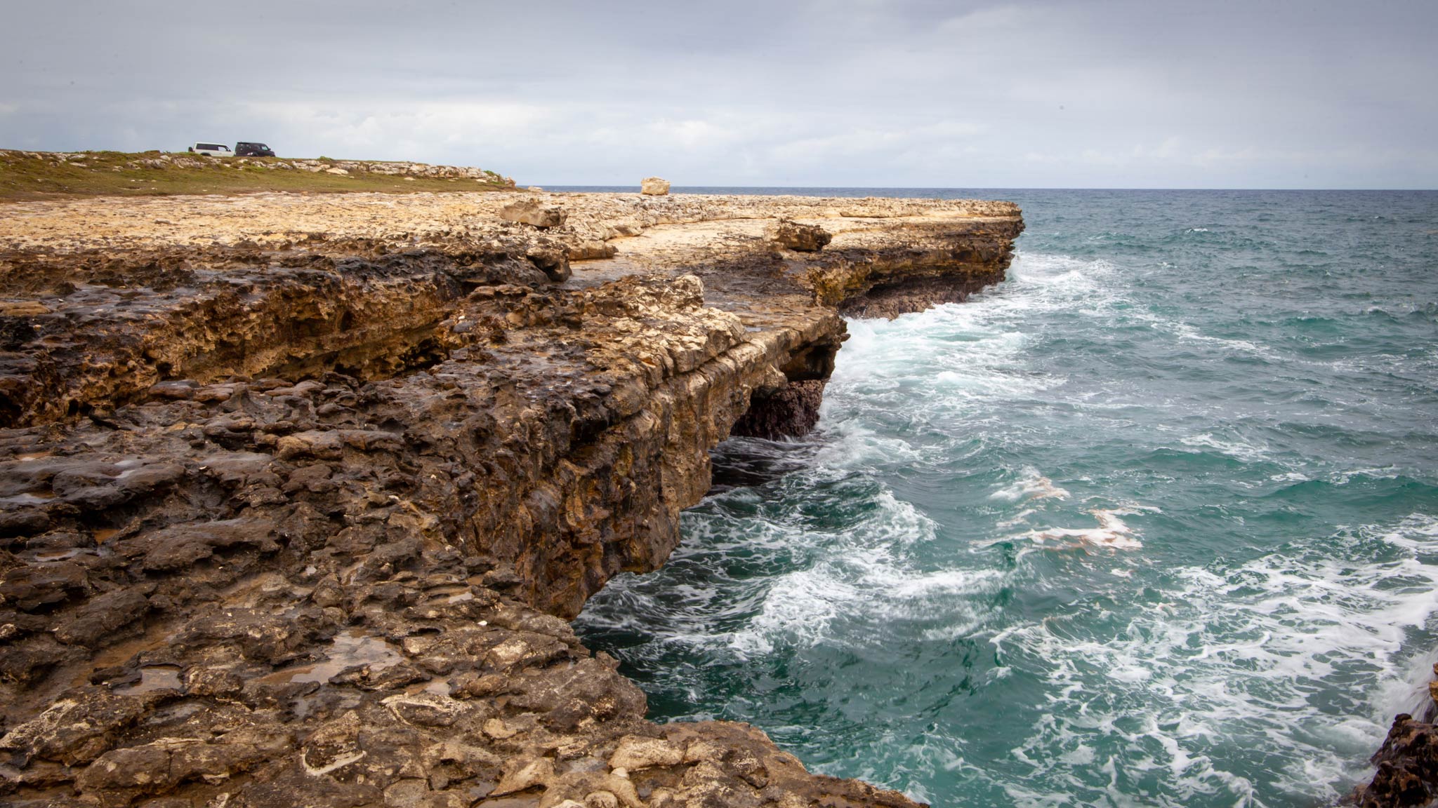
M 565 618 L 718 441 L 812 426 L 840 312 L 1001 280 L 1020 211 L 533 198 L 6 206 L 0 798 L 910 805 L 646 722 Z

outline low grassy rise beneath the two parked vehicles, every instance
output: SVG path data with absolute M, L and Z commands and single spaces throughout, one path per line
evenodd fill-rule
M 204 157 L 158 151 L 0 150 L 0 201 L 170 194 L 508 191 L 513 180 L 482 168 L 360 160 Z

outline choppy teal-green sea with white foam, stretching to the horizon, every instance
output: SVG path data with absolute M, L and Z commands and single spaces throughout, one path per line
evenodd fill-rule
M 1438 651 L 1438 194 L 975 196 L 1009 280 L 850 322 L 587 644 L 935 804 L 1340 796 Z

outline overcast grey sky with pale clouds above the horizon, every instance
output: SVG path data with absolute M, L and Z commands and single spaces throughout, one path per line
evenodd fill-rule
M 1438 188 L 1438 0 L 0 0 L 0 147 L 521 184 Z

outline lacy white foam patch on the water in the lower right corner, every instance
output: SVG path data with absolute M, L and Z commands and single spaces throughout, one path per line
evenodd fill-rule
M 1408 552 L 1359 561 L 1375 541 Z M 1245 750 L 1263 749 L 1286 761 L 1284 792 L 1342 795 L 1429 674 L 1426 656 L 1402 651 L 1408 631 L 1438 615 L 1438 565 L 1418 555 L 1438 552 L 1438 520 L 1414 515 L 1319 542 L 1350 548 L 1349 558 L 1276 554 L 1232 569 L 1182 568 L 1175 591 L 1116 633 L 1090 633 L 1081 617 L 998 633 L 1005 664 L 1047 670 L 1051 707 L 1015 748 L 1031 781 L 1066 782 L 1066 755 L 1099 742 L 1106 763 L 1169 772 L 1176 796 L 1149 804 L 1218 794 L 1261 804 L 1238 766 L 1251 763 Z M 1411 584 L 1393 587 L 1399 579 Z

